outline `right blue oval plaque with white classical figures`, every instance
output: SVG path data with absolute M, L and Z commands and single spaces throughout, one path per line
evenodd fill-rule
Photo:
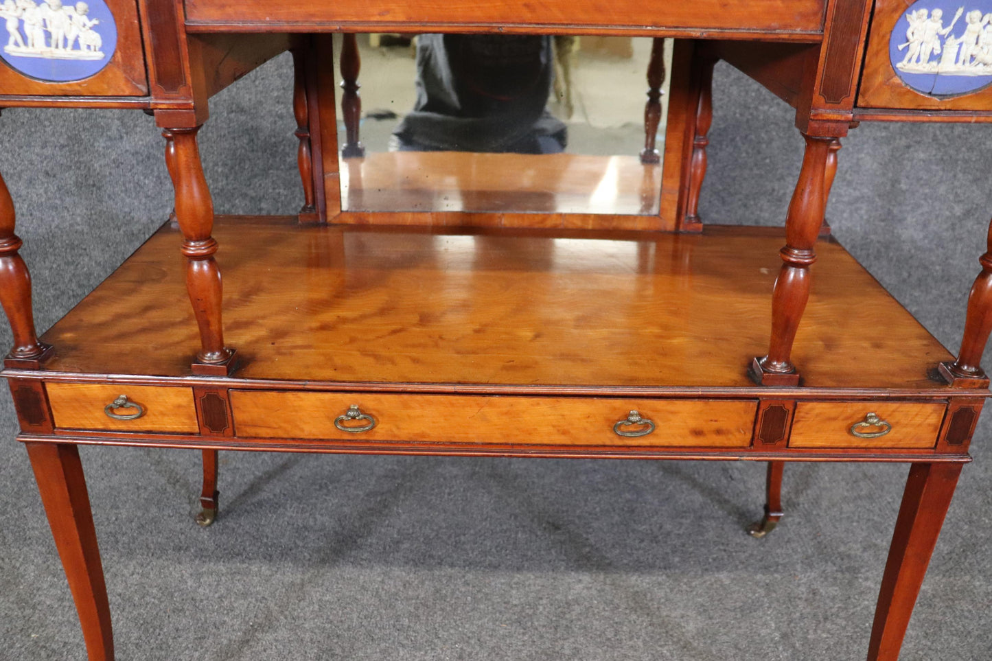
M 889 58 L 904 83 L 931 96 L 992 83 L 992 0 L 918 0 L 896 22 Z

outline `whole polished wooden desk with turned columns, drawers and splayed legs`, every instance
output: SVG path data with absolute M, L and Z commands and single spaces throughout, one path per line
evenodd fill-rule
M 992 119 L 987 88 L 914 90 L 914 76 L 958 73 L 948 61 L 930 74 L 920 54 L 897 66 L 905 4 L 621 2 L 608 19 L 550 1 L 107 6 L 116 47 L 95 73 L 46 82 L 0 66 L 4 106 L 152 112 L 176 187 L 178 229 L 164 226 L 41 339 L 0 189 L 15 338 L 4 375 L 90 659 L 113 658 L 113 642 L 80 444 L 204 451 L 204 522 L 218 450 L 763 461 L 757 534 L 782 516 L 786 462 L 911 463 L 868 652 L 898 657 L 988 395 L 978 361 L 992 324 L 988 255 L 955 357 L 817 238 L 853 123 Z M 341 210 L 324 33 L 497 28 L 681 40 L 657 214 Z M 207 99 L 287 49 L 304 209 L 215 219 L 196 147 Z M 717 59 L 797 108 L 806 156 L 785 236 L 699 221 Z M 357 63 L 342 65 L 347 119 Z M 980 83 L 979 65 L 959 77 Z M 885 324 L 864 324 L 864 310 Z

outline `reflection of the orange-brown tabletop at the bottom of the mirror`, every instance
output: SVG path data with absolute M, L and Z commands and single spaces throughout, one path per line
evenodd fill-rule
M 370 152 L 342 158 L 340 177 L 350 211 L 657 215 L 662 168 L 637 156 Z

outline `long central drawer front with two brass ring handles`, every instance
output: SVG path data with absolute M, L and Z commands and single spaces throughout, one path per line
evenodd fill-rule
M 241 438 L 326 439 L 567 446 L 743 448 L 751 444 L 755 400 L 627 400 L 471 395 L 342 394 L 232 390 Z M 334 424 L 357 405 L 376 426 L 360 433 Z M 622 437 L 613 430 L 631 410 L 655 431 Z M 342 422 L 348 426 L 352 423 Z M 354 426 L 368 424 L 366 419 Z M 625 425 L 620 431 L 647 426 Z

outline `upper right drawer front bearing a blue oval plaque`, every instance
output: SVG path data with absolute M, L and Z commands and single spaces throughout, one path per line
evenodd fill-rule
M 990 12 L 989 0 L 877 0 L 858 105 L 992 110 Z

